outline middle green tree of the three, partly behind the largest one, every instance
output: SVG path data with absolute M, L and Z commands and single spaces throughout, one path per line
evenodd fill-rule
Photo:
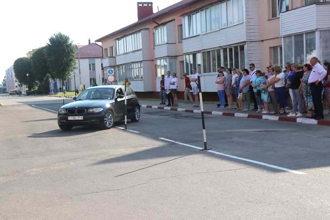
M 39 48 L 33 53 L 31 57 L 31 69 L 36 80 L 41 84 L 45 76 L 49 73 L 46 47 Z

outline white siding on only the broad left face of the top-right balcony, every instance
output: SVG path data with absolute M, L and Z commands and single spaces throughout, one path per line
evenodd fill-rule
M 312 31 L 315 19 L 315 4 L 281 13 L 281 36 Z

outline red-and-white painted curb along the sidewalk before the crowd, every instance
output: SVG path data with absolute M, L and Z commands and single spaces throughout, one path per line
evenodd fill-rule
M 184 108 L 172 108 L 172 107 L 164 107 L 157 105 L 140 105 L 141 108 L 152 108 L 152 109 L 161 109 L 168 111 L 176 111 L 176 112 L 189 112 L 189 113 L 200 113 L 200 110 L 192 110 L 192 109 L 184 109 Z M 315 120 L 311 118 L 288 118 L 283 116 L 270 116 L 270 115 L 253 115 L 246 113 L 233 113 L 233 112 L 217 112 L 217 111 L 204 111 L 206 115 L 216 115 L 216 116 L 229 116 L 229 117 L 238 117 L 238 118 L 255 118 L 261 120 L 273 120 L 273 121 L 285 121 L 285 122 L 294 122 L 301 124 L 315 124 L 315 125 L 324 125 L 330 126 L 330 120 Z

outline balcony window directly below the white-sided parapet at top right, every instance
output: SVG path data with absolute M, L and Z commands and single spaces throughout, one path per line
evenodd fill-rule
M 316 55 L 315 32 L 284 37 L 283 47 L 285 63 L 309 62 Z

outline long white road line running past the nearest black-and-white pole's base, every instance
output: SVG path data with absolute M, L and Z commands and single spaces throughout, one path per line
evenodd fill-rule
M 161 137 L 159 139 L 165 140 L 165 141 L 168 141 L 168 142 L 172 142 L 172 143 L 176 143 L 176 144 L 180 144 L 180 145 L 183 145 L 183 146 L 195 148 L 195 149 L 198 149 L 198 150 L 202 150 L 202 148 L 199 148 L 199 147 L 196 147 L 196 146 L 193 146 L 193 145 L 190 145 L 190 144 L 184 144 L 184 143 L 181 143 L 181 142 L 178 142 L 178 141 L 166 139 L 166 138 L 163 138 L 163 137 Z M 273 169 L 280 169 L 280 170 L 283 170 L 283 171 L 292 172 L 292 173 L 299 174 L 299 175 L 307 174 L 307 173 L 300 172 L 300 171 L 297 171 L 297 170 L 282 168 L 282 167 L 278 167 L 278 166 L 275 166 L 275 165 L 259 162 L 259 161 L 256 161 L 256 160 L 250 160 L 250 159 L 246 159 L 246 158 L 243 158 L 243 157 L 232 156 L 230 154 L 220 153 L 220 152 L 216 152 L 216 151 L 207 151 L 207 152 L 218 154 L 218 155 L 221 155 L 221 156 L 230 157 L 230 158 L 237 159 L 237 160 L 247 161 L 247 162 L 254 163 L 254 164 L 259 164 L 259 165 L 262 165 L 262 166 L 265 166 L 265 167 L 270 167 L 270 168 L 273 168 Z

